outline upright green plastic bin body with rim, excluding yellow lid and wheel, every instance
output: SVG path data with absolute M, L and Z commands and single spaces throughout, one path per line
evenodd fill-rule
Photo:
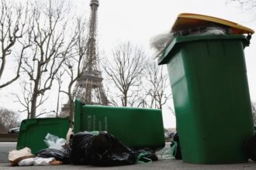
M 254 134 L 244 36 L 181 36 L 165 49 L 184 162 L 247 162 Z

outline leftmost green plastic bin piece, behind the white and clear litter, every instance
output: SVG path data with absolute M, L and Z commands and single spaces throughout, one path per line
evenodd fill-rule
M 66 138 L 69 128 L 67 118 L 35 118 L 22 121 L 19 129 L 19 138 L 16 149 L 28 147 L 35 155 L 37 151 L 48 148 L 44 143 L 47 133 L 59 138 Z

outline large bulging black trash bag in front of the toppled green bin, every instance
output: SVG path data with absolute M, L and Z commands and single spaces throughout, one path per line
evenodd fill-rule
M 74 165 L 132 165 L 136 152 L 127 148 L 106 131 L 92 134 L 88 131 L 71 136 L 70 160 Z

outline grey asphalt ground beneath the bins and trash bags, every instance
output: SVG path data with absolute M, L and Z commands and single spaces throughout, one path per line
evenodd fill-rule
M 55 165 L 55 166 L 29 166 L 29 167 L 11 167 L 8 163 L 8 154 L 9 151 L 16 148 L 16 143 L 7 143 L 7 142 L 1 142 L 0 143 L 0 170 L 26 170 L 26 169 L 35 169 L 35 170 L 48 170 L 48 169 L 129 169 L 129 170 L 137 170 L 137 169 L 235 169 L 235 170 L 251 170 L 256 169 L 256 162 L 249 161 L 248 163 L 244 164 L 230 164 L 230 165 L 196 165 L 196 164 L 188 164 L 182 161 L 174 160 L 168 157 L 167 152 L 169 149 L 169 143 L 165 146 L 165 148 L 161 151 L 157 152 L 157 155 L 161 158 L 157 162 L 153 162 L 151 164 L 137 164 L 137 165 L 126 165 L 126 166 L 118 166 L 118 167 L 95 167 L 95 166 L 88 166 L 88 165 Z

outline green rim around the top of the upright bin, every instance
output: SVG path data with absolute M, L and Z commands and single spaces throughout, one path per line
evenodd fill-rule
M 245 46 L 249 45 L 246 36 L 243 35 L 206 35 L 206 36 L 178 36 L 171 41 L 171 43 L 163 49 L 164 53 L 158 59 L 158 65 L 168 63 L 171 59 L 171 54 L 178 46 L 182 46 L 185 42 L 195 42 L 210 39 L 241 39 Z

